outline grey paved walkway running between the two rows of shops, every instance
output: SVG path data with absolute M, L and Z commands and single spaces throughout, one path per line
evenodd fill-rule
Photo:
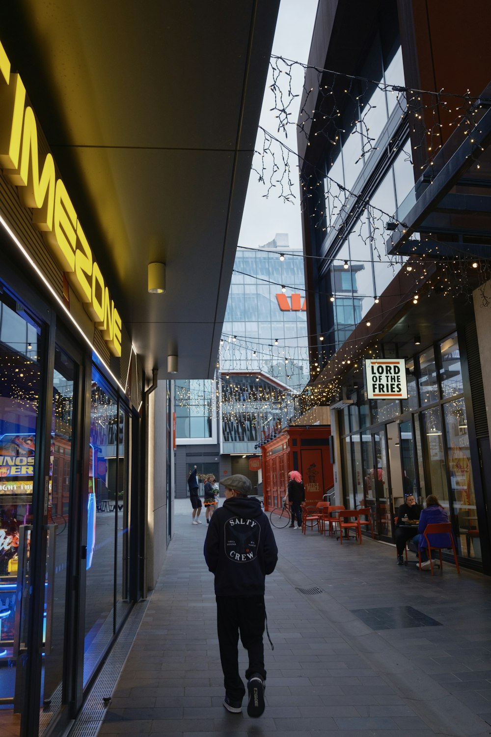
M 266 579 L 266 710 L 250 719 L 244 699 L 242 715 L 227 713 L 206 525 L 190 512 L 176 501 L 174 539 L 101 734 L 491 735 L 491 580 L 450 564 L 432 577 L 397 566 L 392 546 L 289 528 L 275 531 L 280 559 Z

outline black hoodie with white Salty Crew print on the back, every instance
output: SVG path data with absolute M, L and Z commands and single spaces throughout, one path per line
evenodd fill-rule
M 217 596 L 264 594 L 264 578 L 275 570 L 278 548 L 261 503 L 230 497 L 211 517 L 205 561 L 215 574 Z

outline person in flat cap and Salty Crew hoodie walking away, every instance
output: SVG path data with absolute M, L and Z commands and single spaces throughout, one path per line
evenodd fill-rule
M 239 675 L 239 632 L 249 654 L 245 673 L 249 716 L 264 712 L 264 579 L 275 570 L 278 548 L 252 485 L 236 474 L 222 479 L 225 503 L 216 509 L 205 539 L 205 561 L 215 574 L 216 619 L 228 711 L 241 713 L 245 696 Z

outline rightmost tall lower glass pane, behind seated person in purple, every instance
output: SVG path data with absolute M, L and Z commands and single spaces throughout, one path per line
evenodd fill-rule
M 448 443 L 453 514 L 458 523 L 459 554 L 481 559 L 476 497 L 470 466 L 469 436 L 464 399 L 448 402 L 443 408 Z

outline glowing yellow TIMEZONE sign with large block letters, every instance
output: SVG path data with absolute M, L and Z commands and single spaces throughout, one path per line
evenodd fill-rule
M 51 153 L 38 147 L 38 124 L 27 105 L 26 88 L 13 74 L 0 43 L 0 166 L 18 188 L 24 207 L 43 235 L 74 293 L 102 332 L 110 352 L 121 356 L 121 317 L 82 230 Z

